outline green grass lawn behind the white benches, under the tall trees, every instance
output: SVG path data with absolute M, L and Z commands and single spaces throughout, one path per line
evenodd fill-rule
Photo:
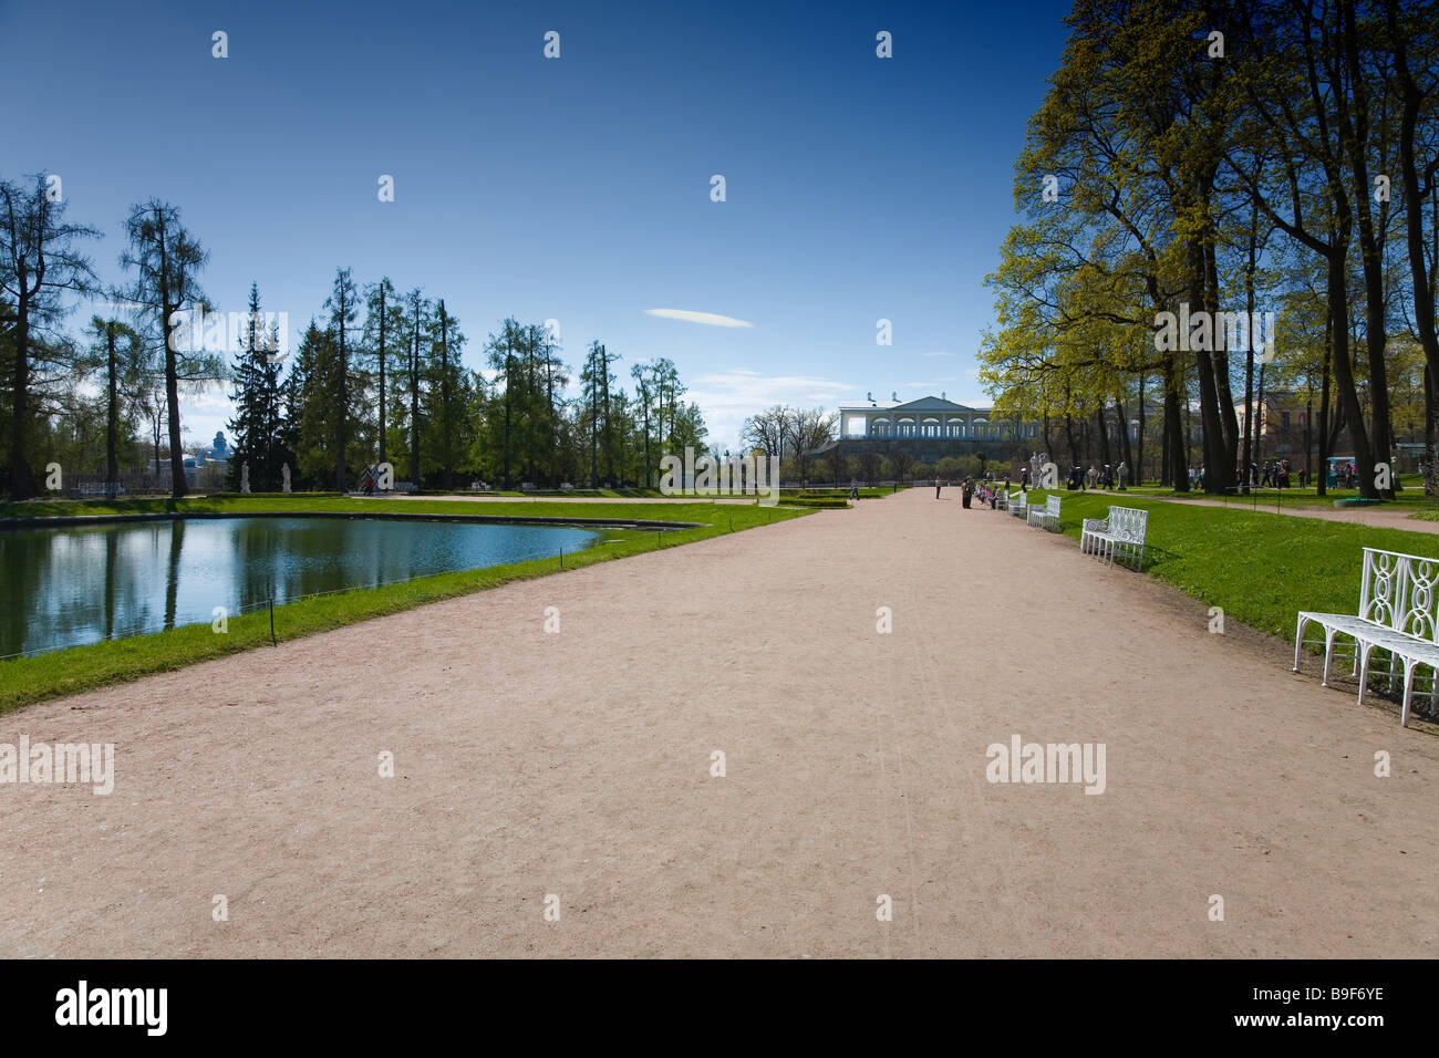
M 1043 504 L 1045 492 L 1032 491 Z M 1056 492 L 1061 530 L 1079 538 L 1085 518 L 1111 505 L 1150 512 L 1144 570 L 1225 616 L 1292 642 L 1298 610 L 1356 613 L 1364 547 L 1439 556 L 1432 533 L 1286 518 L 1232 505 L 1190 507 L 1135 492 Z

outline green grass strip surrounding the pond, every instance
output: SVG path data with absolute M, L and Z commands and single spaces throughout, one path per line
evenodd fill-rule
M 607 541 L 584 551 L 564 556 L 564 570 L 623 559 L 661 547 L 678 547 L 696 540 L 740 533 L 757 525 L 789 518 L 802 518 L 809 511 L 758 507 L 757 504 L 472 504 L 445 499 L 347 499 L 341 497 L 197 497 L 193 499 L 118 499 L 95 502 L 26 502 L 0 504 L 0 518 L 37 518 L 58 515 L 96 514 L 291 514 L 319 512 L 400 512 L 400 514 L 459 514 L 459 515 L 522 515 L 551 518 L 613 518 L 616 521 L 685 521 L 702 523 L 699 528 L 610 533 Z M 4 530 L 0 530 L 3 533 Z M 471 592 L 482 592 L 514 580 L 527 580 L 560 573 L 560 557 L 538 559 L 484 570 L 442 573 L 403 584 L 357 589 L 315 596 L 278 606 L 275 641 L 298 639 L 328 629 L 397 613 L 425 603 L 450 599 Z M 184 668 L 200 661 L 220 658 L 237 651 L 271 646 L 271 615 L 268 610 L 232 615 L 229 630 L 219 635 L 210 625 L 186 625 L 167 632 L 112 639 L 86 646 L 73 646 L 53 654 L 0 661 L 0 714 L 45 698 L 76 694 L 106 684 L 138 679 L 151 672 Z

